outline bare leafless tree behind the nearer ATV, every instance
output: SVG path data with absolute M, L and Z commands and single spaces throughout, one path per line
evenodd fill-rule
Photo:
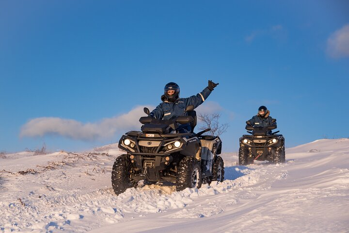
M 226 132 L 228 127 L 230 126 L 228 123 L 220 124 L 219 119 L 221 118 L 221 114 L 213 113 L 211 115 L 208 114 L 199 114 L 199 120 L 203 122 L 203 126 L 201 126 L 200 130 L 206 130 L 207 128 L 211 129 L 209 132 L 212 136 L 219 136 L 222 133 Z

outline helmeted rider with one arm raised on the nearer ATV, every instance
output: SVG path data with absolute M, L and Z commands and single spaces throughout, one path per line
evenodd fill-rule
M 154 109 L 149 115 L 164 120 L 172 120 L 177 116 L 183 116 L 184 110 L 189 105 L 194 105 L 194 108 L 202 104 L 213 89 L 219 83 L 213 83 L 208 80 L 208 86 L 196 96 L 190 96 L 189 98 L 179 98 L 179 86 L 176 83 L 167 83 L 164 88 L 164 94 L 161 96 L 162 103 L 160 103 L 156 109 Z M 187 114 L 185 114 L 187 115 Z M 181 125 L 178 130 L 182 133 L 183 129 L 190 132 L 190 125 Z M 186 133 L 186 132 L 183 132 Z

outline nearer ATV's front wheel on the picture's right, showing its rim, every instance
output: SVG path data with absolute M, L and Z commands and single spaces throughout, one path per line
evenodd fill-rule
M 200 188 L 201 183 L 201 168 L 199 163 L 193 157 L 184 157 L 177 168 L 176 190 Z

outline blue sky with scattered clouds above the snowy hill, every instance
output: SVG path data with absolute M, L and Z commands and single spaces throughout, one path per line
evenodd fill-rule
M 207 80 L 227 152 L 260 105 L 286 147 L 349 137 L 348 78 L 346 0 L 0 1 L 1 151 L 115 143 L 166 83 Z

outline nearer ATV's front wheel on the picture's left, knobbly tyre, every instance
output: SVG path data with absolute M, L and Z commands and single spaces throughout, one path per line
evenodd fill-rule
M 137 186 L 130 178 L 130 171 L 131 160 L 127 154 L 117 157 L 111 171 L 111 185 L 116 195 L 125 192 L 127 188 Z

